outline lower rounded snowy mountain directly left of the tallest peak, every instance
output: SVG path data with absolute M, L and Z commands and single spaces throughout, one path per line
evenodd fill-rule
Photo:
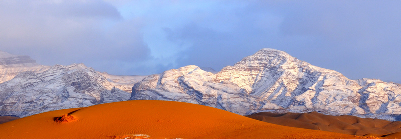
M 171 100 L 246 113 L 252 97 L 231 82 L 214 82 L 215 75 L 189 65 L 146 77 L 132 88 L 131 99 Z

